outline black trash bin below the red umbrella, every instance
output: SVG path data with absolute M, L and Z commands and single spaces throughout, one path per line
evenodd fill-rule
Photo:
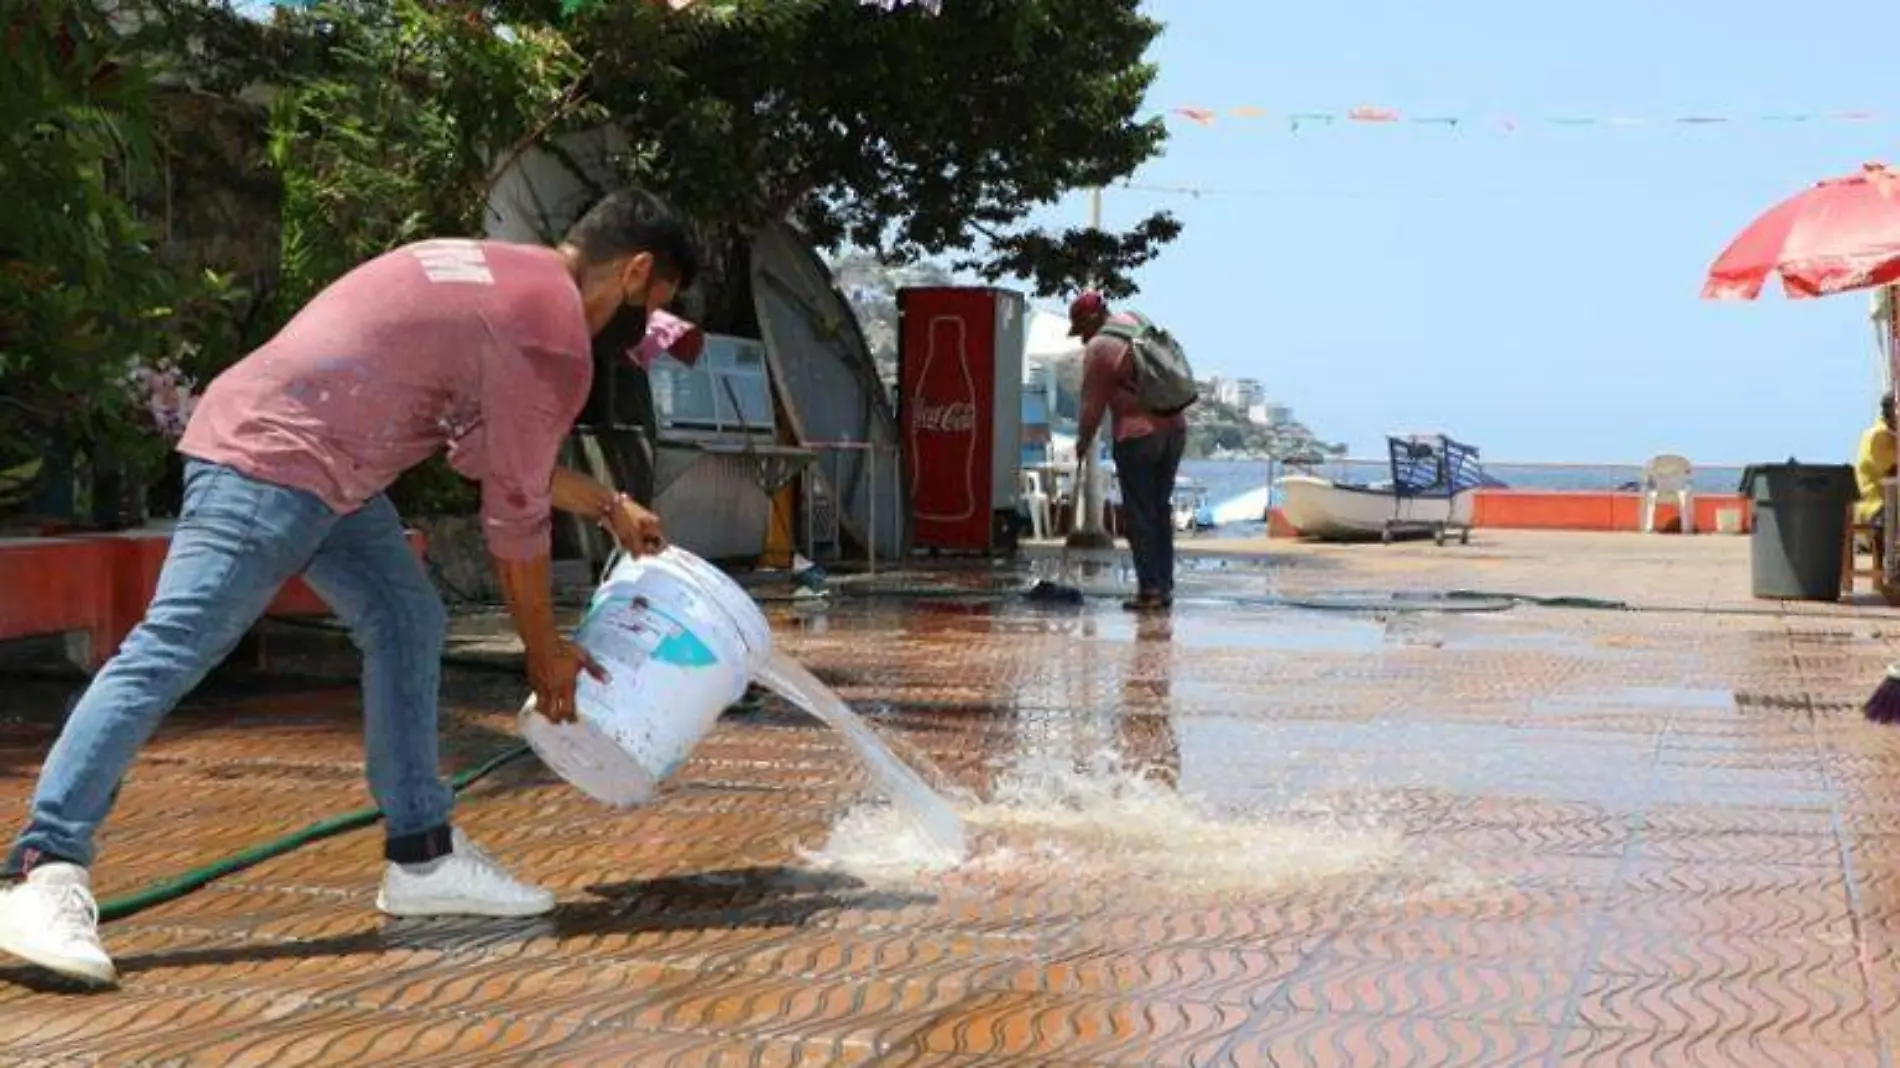
M 1847 507 L 1858 496 L 1847 464 L 1752 464 L 1742 494 L 1756 505 L 1750 570 L 1756 597 L 1839 601 Z

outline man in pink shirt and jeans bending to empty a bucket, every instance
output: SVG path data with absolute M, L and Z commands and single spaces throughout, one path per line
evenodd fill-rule
M 659 200 L 618 192 L 559 249 L 422 241 L 319 293 L 205 391 L 179 450 L 184 507 L 144 621 L 99 671 L 40 770 L 6 867 L 0 950 L 114 982 L 87 868 L 120 779 L 160 720 L 304 576 L 363 650 L 369 789 L 384 811 L 376 906 L 391 916 L 532 916 L 551 893 L 450 827 L 437 770 L 446 616 L 384 490 L 439 448 L 481 481 L 481 515 L 536 703 L 574 718 L 580 671 L 555 629 L 549 509 L 633 553 L 659 521 L 555 466 L 593 382 L 591 334 L 692 285 L 697 255 Z

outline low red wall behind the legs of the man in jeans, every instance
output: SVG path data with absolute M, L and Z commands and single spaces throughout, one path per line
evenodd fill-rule
M 144 618 L 169 542 L 169 534 L 152 530 L 0 538 L 0 640 L 84 631 L 86 667 L 97 669 Z M 420 557 L 418 530 L 408 532 L 408 544 Z M 331 608 L 293 578 L 270 614 L 329 616 Z

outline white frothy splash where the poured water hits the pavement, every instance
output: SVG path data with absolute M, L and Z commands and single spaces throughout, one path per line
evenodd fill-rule
M 1130 891 L 1233 897 L 1370 874 L 1400 859 L 1402 836 L 1222 811 L 1113 751 L 1077 766 L 1032 754 L 998 777 L 988 800 L 965 800 L 977 846 L 956 882 L 984 886 L 1117 886 Z M 916 840 L 889 810 L 847 813 L 806 859 L 866 884 L 925 874 Z M 940 886 L 931 876 L 931 886 Z

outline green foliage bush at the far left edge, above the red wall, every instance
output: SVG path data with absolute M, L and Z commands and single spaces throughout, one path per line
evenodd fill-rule
M 150 477 L 169 443 L 141 371 L 228 359 L 238 293 L 167 264 L 133 201 L 162 181 L 142 42 L 80 0 L 27 6 L 0 63 L 0 471 L 72 448 Z M 4 479 L 6 475 L 0 475 Z M 0 486 L 0 492 L 6 492 Z

